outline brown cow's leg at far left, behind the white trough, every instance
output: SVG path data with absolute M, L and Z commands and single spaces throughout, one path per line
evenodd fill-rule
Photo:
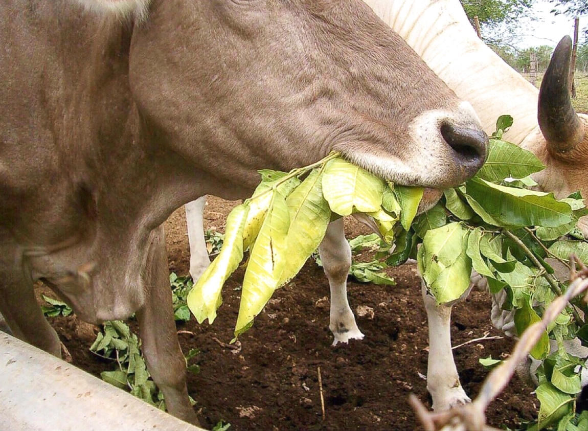
M 12 272 L 0 272 L 0 313 L 12 334 L 61 358 L 59 337 L 39 308 L 31 280 L 14 278 Z

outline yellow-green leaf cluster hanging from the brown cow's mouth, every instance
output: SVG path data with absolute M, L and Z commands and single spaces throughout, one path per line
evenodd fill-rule
M 392 242 L 396 230 L 406 232 L 402 225 L 410 225 L 422 198 L 422 190 L 387 184 L 337 153 L 290 173 L 265 170 L 260 175 L 262 182 L 253 196 L 229 214 L 219 256 L 188 295 L 198 322 L 212 323 L 222 303 L 222 285 L 249 249 L 235 337 L 250 328 L 273 292 L 298 273 L 325 236 L 330 220 L 367 213 L 382 238 Z M 352 275 L 392 284 L 380 273 L 384 266 L 356 262 Z

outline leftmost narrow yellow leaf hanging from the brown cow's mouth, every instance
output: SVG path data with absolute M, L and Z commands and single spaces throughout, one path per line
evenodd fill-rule
M 249 206 L 236 206 L 226 219 L 225 243 L 211 265 L 188 293 L 187 303 L 198 323 L 208 319 L 212 323 L 222 303 L 220 291 L 226 279 L 243 259 L 243 229 L 248 219 Z

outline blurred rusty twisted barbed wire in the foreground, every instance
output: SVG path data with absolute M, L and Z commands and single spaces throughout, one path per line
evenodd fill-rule
M 502 365 L 496 367 L 486 378 L 482 390 L 471 404 L 455 407 L 445 412 L 429 412 L 415 395 L 410 395 L 410 405 L 415 410 L 417 417 L 427 431 L 463 431 L 463 430 L 481 430 L 481 431 L 498 431 L 497 428 L 486 425 L 486 408 L 499 395 L 500 392 L 509 383 L 510 378 L 515 373 L 517 364 L 527 358 L 530 350 L 537 343 L 537 340 L 547 330 L 547 326 L 554 322 L 559 313 L 566 307 L 567 303 L 574 296 L 578 296 L 588 289 L 588 269 L 576 256 L 570 258 L 572 261 L 572 283 L 566 292 L 553 300 L 547 307 L 540 322 L 533 323 L 529 326 L 520 337 L 515 345 L 510 359 L 505 360 Z M 582 268 L 576 273 L 577 266 Z M 584 297 L 588 302 L 588 295 Z

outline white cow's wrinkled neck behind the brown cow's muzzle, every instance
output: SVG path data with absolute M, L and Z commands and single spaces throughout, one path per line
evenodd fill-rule
M 505 138 L 520 143 L 537 128 L 538 91 L 477 38 L 457 0 L 364 0 L 459 98 L 472 103 L 487 133 L 515 119 Z

